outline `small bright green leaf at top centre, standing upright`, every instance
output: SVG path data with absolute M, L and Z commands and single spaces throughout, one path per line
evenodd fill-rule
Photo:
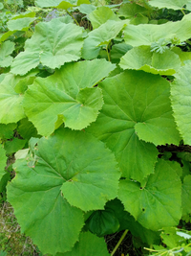
M 97 29 L 100 25 L 104 24 L 107 20 L 119 21 L 117 15 L 109 7 L 98 7 L 94 12 L 88 15 L 94 29 Z

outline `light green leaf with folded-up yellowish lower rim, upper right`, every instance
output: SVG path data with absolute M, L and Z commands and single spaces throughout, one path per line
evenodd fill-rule
M 128 51 L 120 60 L 123 69 L 143 70 L 159 75 L 173 75 L 180 68 L 181 61 L 170 50 L 164 53 L 152 53 L 150 46 L 138 46 Z

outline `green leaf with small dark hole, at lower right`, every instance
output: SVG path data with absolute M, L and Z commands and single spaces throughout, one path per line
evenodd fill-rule
M 181 182 L 170 161 L 160 159 L 155 174 L 148 177 L 144 187 L 135 181 L 121 180 L 118 198 L 125 210 L 148 229 L 157 231 L 180 221 Z

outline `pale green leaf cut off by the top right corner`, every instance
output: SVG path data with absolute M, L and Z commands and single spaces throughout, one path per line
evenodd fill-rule
M 190 0 L 150 0 L 149 5 L 153 7 L 182 10 L 184 5 L 190 4 Z

